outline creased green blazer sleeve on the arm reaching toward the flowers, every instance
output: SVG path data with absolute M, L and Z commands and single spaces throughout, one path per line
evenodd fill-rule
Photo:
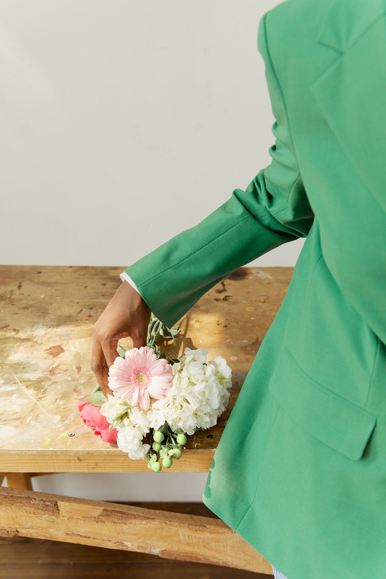
M 271 163 L 245 190 L 234 189 L 231 197 L 203 221 L 124 270 L 150 310 L 167 327 L 177 323 L 227 274 L 282 243 L 306 237 L 313 223 L 284 98 L 270 61 L 266 15 L 259 23 L 258 49 L 275 118 Z

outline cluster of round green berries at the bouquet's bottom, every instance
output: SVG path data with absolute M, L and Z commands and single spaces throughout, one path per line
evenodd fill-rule
M 167 422 L 159 430 L 153 431 L 153 442 L 150 441 L 150 450 L 147 455 L 149 470 L 160 472 L 162 467 L 170 468 L 173 459 L 181 459 L 182 446 L 186 444 L 186 440 L 186 435 L 181 428 L 174 433 Z M 160 459 L 162 465 L 159 462 Z

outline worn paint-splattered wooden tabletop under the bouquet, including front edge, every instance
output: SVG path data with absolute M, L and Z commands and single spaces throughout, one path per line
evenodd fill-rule
M 0 266 L 0 471 L 143 471 L 116 444 L 86 427 L 76 400 L 94 389 L 92 328 L 124 267 Z M 218 424 L 188 438 L 174 471 L 208 470 L 259 345 L 281 305 L 293 267 L 242 267 L 181 318 L 180 334 L 159 342 L 180 357 L 186 346 L 219 354 L 233 387 Z M 126 283 L 126 282 L 123 282 Z

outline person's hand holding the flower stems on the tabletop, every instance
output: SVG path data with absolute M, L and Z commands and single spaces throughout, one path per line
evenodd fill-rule
M 127 281 L 122 281 L 104 312 L 94 324 L 91 369 L 107 398 L 108 371 L 117 353 L 118 340 L 130 338 L 134 347 L 146 346 L 150 309 L 142 296 Z

